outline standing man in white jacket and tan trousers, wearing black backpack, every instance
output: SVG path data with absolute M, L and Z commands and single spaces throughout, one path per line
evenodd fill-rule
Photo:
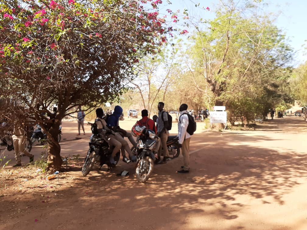
M 182 104 L 179 107 L 180 116 L 178 119 L 178 142 L 181 145 L 181 151 L 183 155 L 183 166 L 178 173 L 188 173 L 190 171 L 190 156 L 189 156 L 189 145 L 191 135 L 187 132 L 189 118 L 188 118 L 188 105 Z

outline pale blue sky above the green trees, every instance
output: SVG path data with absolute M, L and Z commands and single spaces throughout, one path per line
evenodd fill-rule
M 242 1 L 242 0 L 241 0 Z M 197 8 L 195 4 L 200 3 L 200 6 L 205 8 L 208 6 L 210 8 L 209 12 L 202 12 L 203 18 L 213 18 L 214 17 L 214 5 L 216 5 L 218 0 L 171 0 L 172 10 L 183 8 L 193 10 L 197 13 Z M 305 63 L 307 60 L 307 50 L 304 51 L 302 45 L 307 45 L 307 1 L 306 0 L 262 0 L 262 3 L 267 3 L 269 6 L 265 7 L 266 12 L 275 13 L 278 15 L 275 25 L 282 29 L 289 39 L 290 46 L 295 50 L 295 59 L 293 66 Z M 258 3 L 260 4 L 260 3 Z M 305 52 L 305 54 L 304 54 Z

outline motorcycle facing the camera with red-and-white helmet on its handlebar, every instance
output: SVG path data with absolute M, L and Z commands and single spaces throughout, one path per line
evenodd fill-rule
M 134 125 L 131 133 L 137 137 L 137 146 L 134 155 L 137 156 L 135 175 L 139 182 L 146 182 L 153 171 L 153 162 L 156 159 L 153 150 L 156 148 L 156 134 L 145 126 Z

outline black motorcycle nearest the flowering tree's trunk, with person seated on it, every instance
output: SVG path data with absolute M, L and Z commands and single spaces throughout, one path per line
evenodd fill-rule
M 95 123 L 93 124 L 88 122 L 87 124 L 91 125 L 92 135 L 88 143 L 90 148 L 88 149 L 86 158 L 84 160 L 84 165 L 82 167 L 82 175 L 86 176 L 91 171 L 98 157 L 100 161 L 99 170 L 104 164 L 106 164 L 108 166 L 108 170 L 111 171 L 112 165 L 109 159 L 114 147 L 110 147 L 101 134 L 95 134 Z M 119 162 L 119 158 L 120 151 L 118 151 L 114 157 L 115 165 Z

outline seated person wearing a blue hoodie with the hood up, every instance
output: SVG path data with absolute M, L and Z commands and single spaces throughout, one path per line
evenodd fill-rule
M 107 119 L 107 126 L 111 128 L 114 132 L 117 132 L 120 134 L 120 135 L 116 135 L 115 137 L 119 142 L 122 143 L 122 149 L 121 149 L 122 157 L 123 157 L 122 160 L 126 163 L 129 163 L 129 160 L 126 159 L 125 150 L 128 152 L 130 160 L 134 161 L 135 157 L 133 157 L 131 149 L 129 148 L 127 141 L 124 140 L 123 137 L 128 137 L 133 147 L 136 147 L 136 142 L 130 132 L 127 132 L 126 130 L 119 127 L 119 117 L 121 115 L 122 115 L 122 107 L 120 107 L 119 105 L 116 105 L 114 108 L 113 114 L 111 114 L 109 118 Z

